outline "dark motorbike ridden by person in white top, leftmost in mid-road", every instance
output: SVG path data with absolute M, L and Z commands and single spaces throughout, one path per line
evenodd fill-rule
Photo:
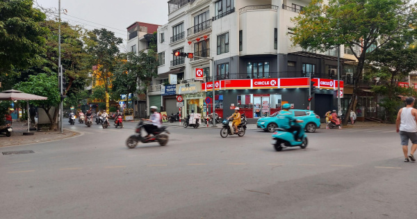
M 152 136 L 150 137 L 143 137 L 142 136 L 142 127 L 144 125 L 143 121 L 140 121 L 138 126 L 136 126 L 136 134 L 130 136 L 126 140 L 126 146 L 129 148 L 135 148 L 136 145 L 138 145 L 139 142 L 141 143 L 154 143 L 158 142 L 159 145 L 165 146 L 168 143 L 168 134 L 170 134 L 169 131 L 167 131 L 167 127 L 161 127 L 159 129 L 156 129 L 154 133 L 152 133 Z

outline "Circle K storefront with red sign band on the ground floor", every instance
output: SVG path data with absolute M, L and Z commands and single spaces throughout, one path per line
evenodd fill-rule
M 316 86 L 311 108 L 323 117 L 337 106 L 337 80 L 311 79 Z M 291 108 L 308 109 L 309 78 L 226 79 L 215 81 L 215 112 L 228 117 L 239 107 L 248 118 L 265 117 L 281 110 L 282 104 Z M 202 92 L 212 92 L 213 82 L 202 83 Z M 207 94 L 211 96 L 211 94 Z M 341 81 L 343 97 L 343 81 Z

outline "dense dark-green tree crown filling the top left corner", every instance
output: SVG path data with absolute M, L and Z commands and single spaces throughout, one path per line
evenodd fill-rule
M 0 74 L 38 62 L 48 32 L 40 26 L 44 19 L 33 0 L 0 1 Z

